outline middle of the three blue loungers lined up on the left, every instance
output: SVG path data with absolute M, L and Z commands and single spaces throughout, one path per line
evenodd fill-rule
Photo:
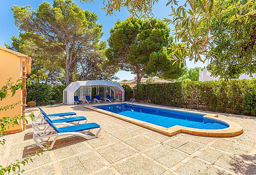
M 42 116 L 47 116 L 47 118 L 52 123 L 69 123 L 69 122 L 72 122 L 73 124 L 77 125 L 82 120 L 85 120 L 85 123 L 88 121 L 87 118 L 83 117 L 83 116 L 75 116 L 75 117 L 70 117 L 70 118 L 64 118 L 64 117 L 60 117 L 60 116 L 49 116 L 39 106 L 38 106 L 38 108 L 40 109 L 40 112 L 41 112 Z M 62 113 L 62 114 L 64 115 L 65 113 Z M 45 117 L 43 117 L 40 121 L 36 121 L 35 119 L 32 121 L 32 128 L 35 131 L 41 131 L 41 130 L 43 130 L 42 127 L 45 127 L 47 125 L 48 124 L 45 121 Z

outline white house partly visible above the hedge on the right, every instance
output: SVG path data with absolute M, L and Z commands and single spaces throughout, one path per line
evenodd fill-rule
M 243 73 L 239 76 L 238 79 L 249 79 L 250 80 L 255 77 L 256 77 L 255 73 L 252 74 L 252 77 L 250 77 L 250 75 L 246 75 Z M 208 72 L 206 67 L 204 67 L 203 71 L 201 70 L 201 67 L 199 67 L 199 81 L 205 82 L 205 81 L 210 81 L 210 80 L 219 80 L 219 78 L 220 78 L 220 76 L 217 76 L 217 77 L 211 76 L 211 73 Z

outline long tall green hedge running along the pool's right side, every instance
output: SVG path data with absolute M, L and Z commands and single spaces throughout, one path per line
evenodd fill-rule
M 135 99 L 157 105 L 255 115 L 256 80 L 141 84 Z

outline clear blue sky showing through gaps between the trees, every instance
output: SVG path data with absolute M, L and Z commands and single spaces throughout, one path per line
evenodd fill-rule
M 50 3 L 53 0 L 46 0 Z M 116 12 L 113 16 L 106 16 L 105 11 L 101 9 L 103 0 L 95 0 L 94 3 L 81 3 L 79 0 L 74 0 L 82 9 L 94 11 L 98 15 L 98 23 L 103 24 L 103 36 L 101 40 L 106 41 L 109 37 L 109 29 L 114 26 L 117 20 L 125 20 L 130 14 L 126 9 L 122 9 L 120 12 Z M 168 0 L 161 0 L 156 3 L 153 7 L 154 17 L 158 19 L 163 19 L 171 13 L 171 6 L 165 6 Z M 19 29 L 14 24 L 13 13 L 10 9 L 14 4 L 18 6 L 30 5 L 34 10 L 38 7 L 43 0 L 1 0 L 1 10 L 0 10 L 0 22 L 2 26 L 0 27 L 0 45 L 3 46 L 3 43 L 10 44 L 10 37 L 12 35 L 18 36 Z M 169 26 L 171 30 L 174 29 L 173 26 Z M 201 62 L 190 62 L 186 60 L 187 67 L 203 67 L 207 66 L 207 63 L 203 64 Z M 116 76 L 119 77 L 119 80 L 123 79 L 133 79 L 135 75 L 132 75 L 130 72 L 119 71 L 116 73 Z M 118 80 L 118 81 L 119 81 Z

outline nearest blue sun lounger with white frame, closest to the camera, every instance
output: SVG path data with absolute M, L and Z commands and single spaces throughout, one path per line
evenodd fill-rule
M 79 124 L 79 125 L 73 125 L 71 123 L 53 123 L 52 120 L 50 120 L 45 113 L 43 113 L 43 116 L 48 126 L 46 126 L 43 131 L 35 131 L 33 133 L 33 140 L 37 143 L 37 145 L 43 148 L 44 151 L 48 149 L 52 149 L 54 143 L 56 142 L 56 139 L 59 136 L 76 135 L 76 136 L 81 136 L 85 139 L 93 139 L 93 138 L 96 138 L 99 132 L 101 131 L 101 126 L 98 125 L 97 123 L 85 123 L 85 124 Z M 57 128 L 56 125 L 67 125 L 67 126 Z M 96 128 L 99 128 L 98 132 L 93 136 L 90 135 L 90 129 L 96 129 Z M 85 132 L 82 133 L 81 131 L 85 131 Z M 49 141 L 51 137 L 54 137 L 54 139 L 48 149 L 38 141 L 38 139 L 40 139 L 41 141 Z

